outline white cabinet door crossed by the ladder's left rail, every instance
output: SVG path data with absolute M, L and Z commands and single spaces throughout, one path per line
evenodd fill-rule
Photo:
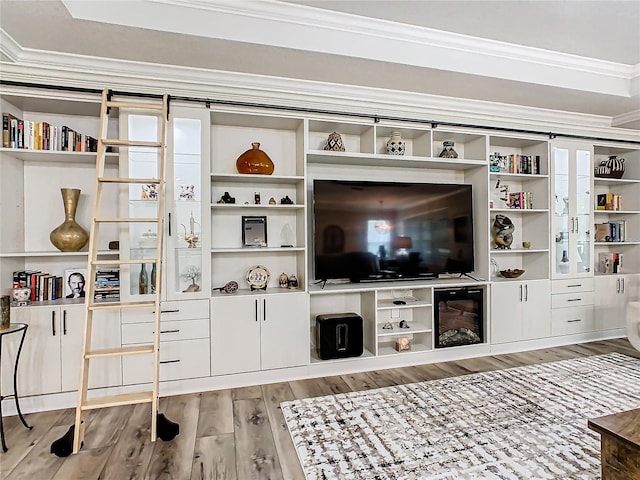
M 84 337 L 84 305 L 66 306 L 61 312 L 62 391 L 77 390 L 80 382 L 82 339 Z M 118 348 L 120 315 L 117 310 L 93 314 L 91 350 Z M 120 357 L 95 358 L 89 362 L 89 388 L 122 385 Z

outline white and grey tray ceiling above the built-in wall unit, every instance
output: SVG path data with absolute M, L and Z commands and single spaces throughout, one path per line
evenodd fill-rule
M 2 59 L 18 65 L 65 52 L 640 128 L 640 0 L 2 0 L 0 27 Z

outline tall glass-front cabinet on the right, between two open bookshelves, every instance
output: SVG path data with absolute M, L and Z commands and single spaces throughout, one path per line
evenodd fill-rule
M 562 142 L 552 146 L 553 278 L 592 273 L 593 146 Z

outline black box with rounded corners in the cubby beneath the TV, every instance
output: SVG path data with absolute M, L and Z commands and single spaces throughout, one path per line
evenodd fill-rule
M 316 353 L 322 360 L 362 355 L 362 317 L 331 313 L 316 317 Z

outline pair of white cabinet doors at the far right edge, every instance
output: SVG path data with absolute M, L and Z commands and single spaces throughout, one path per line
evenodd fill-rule
M 638 298 L 640 275 L 606 275 L 595 278 L 595 329 L 625 328 L 627 305 Z

